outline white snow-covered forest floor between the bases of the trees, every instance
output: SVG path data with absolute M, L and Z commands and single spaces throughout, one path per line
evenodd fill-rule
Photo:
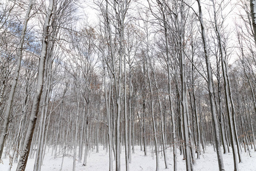
M 231 149 L 231 148 L 230 148 Z M 48 150 L 47 150 L 48 151 Z M 179 150 L 178 150 L 179 152 Z M 218 161 L 217 161 L 217 154 L 214 152 L 212 146 L 206 147 L 205 154 L 200 156 L 199 160 L 196 160 L 196 165 L 194 165 L 194 170 L 218 170 Z M 224 165 L 226 171 L 234 170 L 233 167 L 233 156 L 232 153 L 224 154 Z M 183 156 L 178 155 L 177 162 L 178 162 L 178 170 L 186 170 L 185 160 L 182 160 Z M 160 170 L 173 170 L 173 157 L 172 152 L 168 149 L 168 162 L 169 162 L 169 169 L 165 169 L 164 164 L 164 157 L 161 156 L 160 153 Z M 59 156 L 55 158 L 51 156 L 51 150 L 49 153 L 46 154 L 44 157 L 44 162 L 42 166 L 42 171 L 54 171 L 59 170 L 60 165 L 62 163 L 62 157 Z M 72 170 L 72 163 L 73 158 L 64 157 L 63 162 L 63 169 L 64 171 L 71 171 Z M 100 146 L 100 152 L 96 153 L 96 150 L 90 153 L 90 156 L 87 159 L 87 166 L 83 166 L 82 163 L 76 162 L 76 170 L 108 170 L 108 153 L 103 150 L 103 146 Z M 129 165 L 131 171 L 135 170 L 155 170 L 156 167 L 156 158 L 152 157 L 151 149 L 148 148 L 148 156 L 144 156 L 144 152 L 140 150 L 140 146 L 136 146 L 135 154 L 132 154 L 132 163 Z M 13 165 L 13 169 L 16 170 L 17 164 Z M 34 159 L 29 159 L 27 161 L 26 171 L 33 170 L 34 167 Z M 9 158 L 3 159 L 3 164 L 0 164 L 1 171 L 7 171 L 9 168 Z M 115 162 L 113 162 L 113 168 L 115 169 Z M 123 152 L 121 153 L 121 170 L 125 170 L 125 156 L 124 156 L 124 148 Z M 248 152 L 242 153 L 242 163 L 239 163 L 239 170 L 240 171 L 249 171 L 249 170 L 256 170 L 256 152 L 251 150 L 251 157 L 249 156 Z

